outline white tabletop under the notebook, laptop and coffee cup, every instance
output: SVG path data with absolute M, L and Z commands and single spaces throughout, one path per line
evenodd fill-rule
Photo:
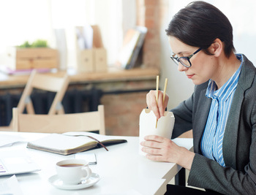
M 39 133 L 0 132 L 1 134 L 20 135 L 31 141 L 45 136 Z M 150 161 L 140 156 L 138 137 L 113 137 L 127 139 L 127 143 L 89 150 L 84 153 L 95 153 L 97 164 L 91 165 L 92 172 L 100 176 L 94 186 L 81 190 L 61 190 L 48 182 L 56 174 L 55 164 L 75 155 L 62 156 L 40 150 L 26 148 L 26 142 L 16 143 L 1 150 L 25 150 L 39 164 L 41 171 L 16 175 L 24 195 L 79 195 L 79 194 L 165 194 L 166 185 L 181 169 L 177 164 Z M 192 139 L 174 139 L 178 145 L 192 150 Z M 5 180 L 10 176 L 1 176 Z

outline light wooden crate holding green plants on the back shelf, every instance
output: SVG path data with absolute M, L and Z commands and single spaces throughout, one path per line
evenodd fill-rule
M 13 70 L 58 68 L 59 53 L 58 50 L 45 47 L 10 47 L 7 51 L 7 66 Z

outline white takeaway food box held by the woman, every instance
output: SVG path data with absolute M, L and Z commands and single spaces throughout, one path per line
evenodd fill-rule
M 154 112 L 149 109 L 143 109 L 140 113 L 140 142 L 143 142 L 147 135 L 159 135 L 170 139 L 173 134 L 174 126 L 173 112 L 165 112 L 165 115 L 158 119 Z M 140 145 L 139 153 L 143 156 L 146 155 Z

